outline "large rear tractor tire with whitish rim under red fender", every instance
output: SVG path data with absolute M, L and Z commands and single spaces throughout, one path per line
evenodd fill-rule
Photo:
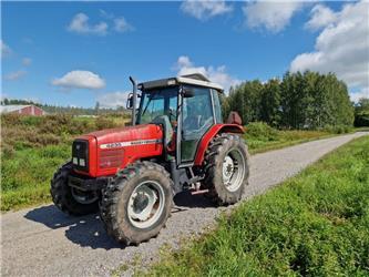
M 249 155 L 244 140 L 235 134 L 217 135 L 205 153 L 204 187 L 217 205 L 240 201 L 249 175 Z

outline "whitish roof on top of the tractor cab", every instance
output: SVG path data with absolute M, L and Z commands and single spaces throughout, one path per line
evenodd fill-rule
M 222 85 L 212 83 L 206 76 L 204 76 L 203 74 L 199 74 L 199 73 L 143 82 L 143 83 L 139 84 L 139 89 L 140 90 L 151 90 L 151 89 L 166 88 L 166 86 L 173 86 L 173 85 L 178 85 L 178 84 L 193 84 L 193 85 L 214 89 L 221 93 L 224 92 L 224 89 Z

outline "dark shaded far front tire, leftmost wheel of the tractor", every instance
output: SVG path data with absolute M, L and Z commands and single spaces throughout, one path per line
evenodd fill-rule
M 73 191 L 74 188 L 68 185 L 68 176 L 71 171 L 72 163 L 69 162 L 61 166 L 54 174 L 50 188 L 53 203 L 60 211 L 69 215 L 81 216 L 98 212 L 98 196 L 93 195 L 90 197 L 89 202 L 85 202 L 85 204 L 78 201 L 78 197 L 75 196 L 76 193 Z M 79 195 L 83 195 L 83 192 L 79 191 Z

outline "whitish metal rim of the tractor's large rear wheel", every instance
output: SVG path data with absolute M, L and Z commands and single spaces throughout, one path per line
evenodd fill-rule
M 239 150 L 228 151 L 223 161 L 223 183 L 229 192 L 237 191 L 245 177 L 245 157 Z

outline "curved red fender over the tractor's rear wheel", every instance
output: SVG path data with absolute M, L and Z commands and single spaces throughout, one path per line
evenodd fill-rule
M 212 126 L 207 133 L 203 136 L 198 144 L 197 153 L 195 156 L 194 165 L 202 165 L 204 161 L 205 151 L 213 137 L 219 133 L 237 133 L 244 134 L 245 130 L 238 124 L 215 124 Z

